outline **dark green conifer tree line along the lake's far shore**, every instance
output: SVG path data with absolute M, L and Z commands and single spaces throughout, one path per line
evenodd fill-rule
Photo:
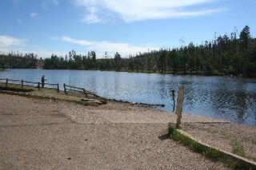
M 99 69 L 142 73 L 173 73 L 200 75 L 242 75 L 256 77 L 256 38 L 250 35 L 250 27 L 245 26 L 240 34 L 237 31 L 224 34 L 201 45 L 181 45 L 174 49 L 159 49 L 114 57 L 105 53 L 97 58 L 94 51 L 87 55 L 74 50 L 65 57 L 52 54 L 42 61 L 33 54 L 17 56 L 0 55 L 0 68 L 36 68 L 41 61 L 42 69 Z M 39 64 L 40 66 L 40 64 Z

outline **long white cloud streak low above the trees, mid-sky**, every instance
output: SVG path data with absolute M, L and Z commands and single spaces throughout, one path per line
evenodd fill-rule
M 52 38 L 55 39 L 56 38 Z M 98 53 L 104 53 L 104 52 L 108 52 L 108 53 L 121 53 L 124 56 L 128 56 L 129 54 L 135 54 L 135 53 L 143 53 L 143 52 L 147 52 L 149 49 L 153 50 L 153 49 L 158 49 L 155 47 L 150 47 L 150 46 L 136 46 L 136 45 L 130 45 L 130 44 L 126 44 L 126 43 L 116 43 L 116 42 L 90 42 L 87 40 L 77 40 L 74 38 L 69 38 L 69 37 L 62 37 L 59 38 L 60 40 L 64 41 L 64 42 L 70 42 L 76 45 L 82 45 L 83 47 L 85 47 L 86 50 L 94 50 Z

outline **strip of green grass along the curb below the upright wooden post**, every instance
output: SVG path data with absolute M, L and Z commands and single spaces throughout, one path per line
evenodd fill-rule
M 178 132 L 174 125 L 169 124 L 168 136 L 170 139 L 178 141 L 178 143 L 185 145 L 187 148 L 194 152 L 201 153 L 202 155 L 210 158 L 214 161 L 220 161 L 233 169 L 256 169 L 253 164 L 240 160 L 233 156 L 230 156 L 224 152 L 219 151 L 216 148 L 210 148 L 206 145 L 198 143 L 196 140 L 192 140 L 190 137 Z

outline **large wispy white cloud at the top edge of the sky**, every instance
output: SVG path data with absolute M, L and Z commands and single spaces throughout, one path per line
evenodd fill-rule
M 86 8 L 86 16 L 82 20 L 84 22 L 90 22 L 90 18 L 97 18 L 97 21 L 101 21 L 102 18 L 106 17 L 102 14 L 112 14 L 126 22 L 135 22 L 214 14 L 221 10 L 198 10 L 195 8 L 197 5 L 214 1 L 218 0 L 76 0 L 76 4 Z M 194 10 L 190 10 L 191 7 Z

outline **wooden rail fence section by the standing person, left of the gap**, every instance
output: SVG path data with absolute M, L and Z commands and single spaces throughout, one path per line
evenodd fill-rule
M 21 85 L 23 88 L 24 85 L 30 85 L 37 87 L 40 89 L 42 87 L 41 82 L 34 82 L 34 81 L 24 81 L 24 80 L 15 80 L 15 79 L 8 79 L 8 78 L 0 78 L 0 82 L 4 83 L 6 87 L 8 85 Z M 59 93 L 59 85 L 58 84 L 53 84 L 53 83 L 44 83 L 44 88 L 46 89 L 56 89 L 57 92 Z

